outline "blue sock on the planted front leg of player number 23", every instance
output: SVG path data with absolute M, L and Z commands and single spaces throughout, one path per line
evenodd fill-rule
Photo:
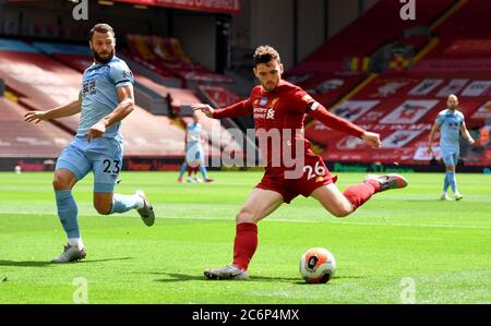
M 79 208 L 76 208 L 72 191 L 56 190 L 55 197 L 57 198 L 58 217 L 67 233 L 67 238 L 80 238 L 79 221 L 76 219 Z

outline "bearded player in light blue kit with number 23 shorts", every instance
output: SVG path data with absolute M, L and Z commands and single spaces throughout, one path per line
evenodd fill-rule
M 153 207 L 143 191 L 133 195 L 115 194 L 121 171 L 121 120 L 134 108 L 133 74 L 124 61 L 115 56 L 116 38 L 111 26 L 96 24 L 89 46 L 94 63 L 83 74 L 79 99 L 48 111 L 31 111 L 27 122 L 69 117 L 81 112 L 76 135 L 58 158 L 53 189 L 58 216 L 68 244 L 53 263 L 83 259 L 86 251 L 77 222 L 77 207 L 72 188 L 91 170 L 94 172 L 94 207 L 101 215 L 136 209 L 146 226 L 155 221 Z

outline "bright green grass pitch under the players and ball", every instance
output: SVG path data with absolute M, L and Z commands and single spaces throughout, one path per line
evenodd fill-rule
M 464 200 L 440 202 L 443 173 L 408 173 L 407 189 L 342 219 L 298 197 L 260 224 L 249 280 L 209 281 L 203 269 L 230 263 L 235 214 L 262 174 L 212 176 L 179 184 L 176 172 L 123 172 L 117 192 L 146 191 L 152 228 L 136 212 L 97 215 L 88 176 L 74 189 L 87 257 L 53 265 L 65 238 L 52 174 L 0 173 L 0 303 L 73 303 L 81 289 L 88 303 L 491 303 L 491 176 L 457 173 Z M 362 178 L 342 173 L 337 185 Z M 312 246 L 336 257 L 327 285 L 300 278 Z

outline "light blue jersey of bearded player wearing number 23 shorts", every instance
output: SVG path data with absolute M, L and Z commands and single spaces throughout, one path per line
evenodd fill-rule
M 85 136 L 95 123 L 111 113 L 119 104 L 117 88 L 133 83 L 131 70 L 117 57 L 109 63 L 93 63 L 87 68 L 82 80 L 82 111 L 76 135 Z M 103 137 L 122 143 L 120 125 L 121 122 L 117 122 L 108 126 Z

